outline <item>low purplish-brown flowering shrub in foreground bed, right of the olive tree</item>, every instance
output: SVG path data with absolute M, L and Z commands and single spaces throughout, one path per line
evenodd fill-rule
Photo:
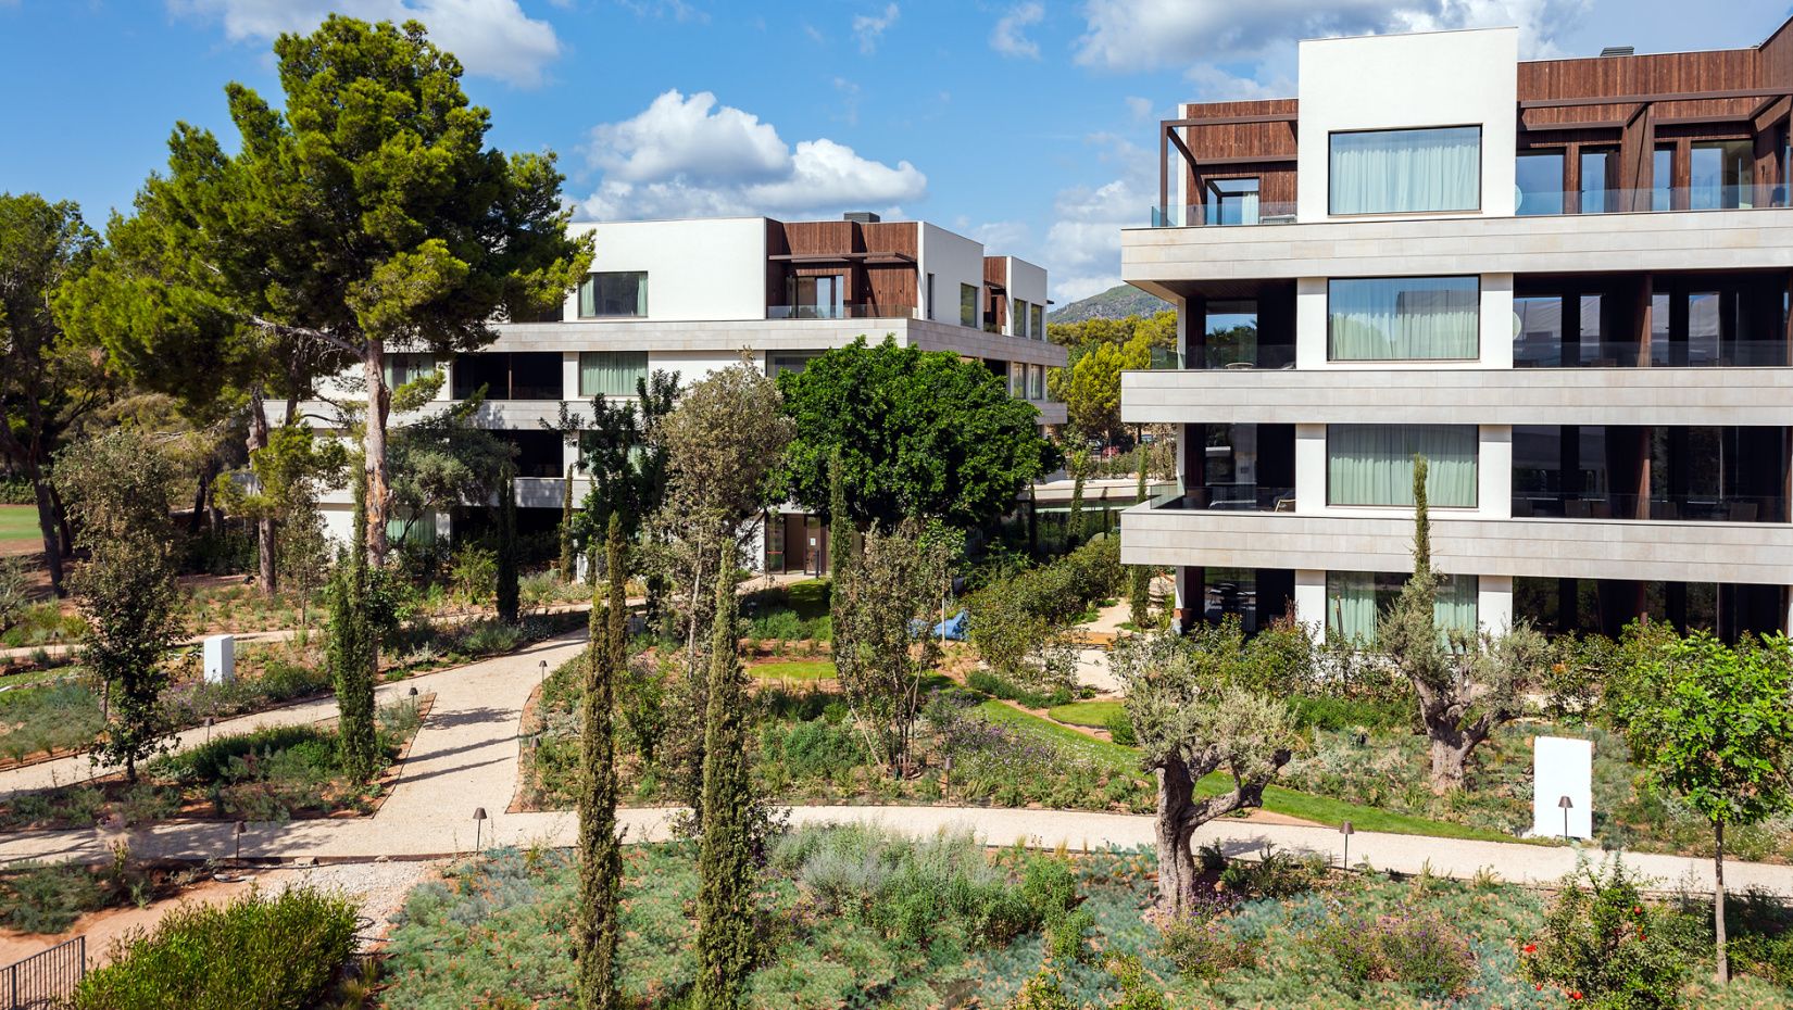
M 1334 912 L 1307 940 L 1347 983 L 1397 981 L 1431 999 L 1461 996 L 1476 976 L 1468 940 L 1436 912 L 1364 920 Z

